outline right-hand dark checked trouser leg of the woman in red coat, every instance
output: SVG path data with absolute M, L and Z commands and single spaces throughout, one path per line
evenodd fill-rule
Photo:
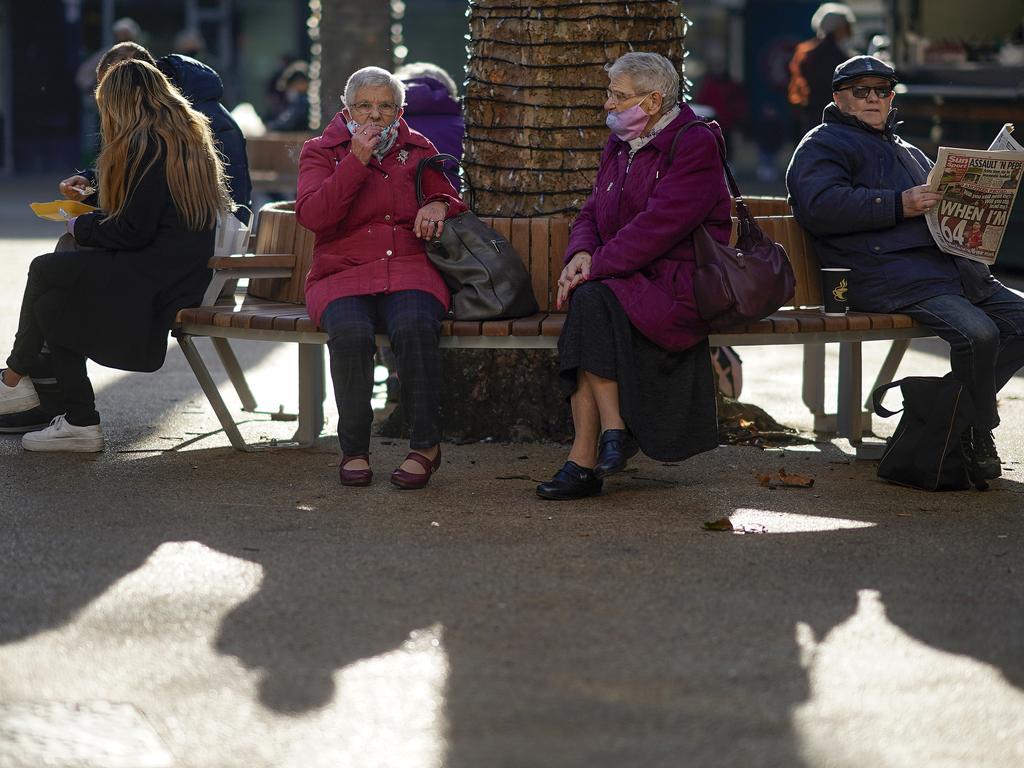
M 440 442 L 441 317 L 444 307 L 425 291 L 398 291 L 383 297 L 384 319 L 398 364 L 401 407 L 409 419 L 409 445 L 429 449 Z

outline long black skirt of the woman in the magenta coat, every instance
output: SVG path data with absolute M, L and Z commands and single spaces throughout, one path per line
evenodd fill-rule
M 715 378 L 707 339 L 670 352 L 633 327 L 600 282 L 572 292 L 558 339 L 559 385 L 568 398 L 579 370 L 618 383 L 618 406 L 640 450 L 682 461 L 718 445 Z

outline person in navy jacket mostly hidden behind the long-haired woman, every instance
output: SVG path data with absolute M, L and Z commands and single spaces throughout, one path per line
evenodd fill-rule
M 96 81 L 101 82 L 115 63 L 132 58 L 156 66 L 181 95 L 188 99 L 193 109 L 209 118 L 214 143 L 226 159 L 225 175 L 231 200 L 239 206 L 249 206 L 252 182 L 249 179 L 246 139 L 238 123 L 220 103 L 220 98 L 224 94 L 220 76 L 202 61 L 180 53 L 154 59 L 144 47 L 126 41 L 114 45 L 99 58 L 96 65 Z M 92 205 L 96 203 L 98 197 L 96 176 L 92 170 L 66 178 L 59 183 L 58 188 L 68 199 L 83 200 Z M 247 209 L 240 207 L 234 211 L 234 215 L 243 221 L 249 220 Z M 63 247 L 62 240 L 58 243 L 57 250 Z M 29 371 L 39 395 L 39 406 L 20 413 L 0 415 L 0 434 L 18 434 L 44 428 L 54 416 L 63 413 L 63 395 L 52 376 L 51 369 L 49 350 L 44 347 Z

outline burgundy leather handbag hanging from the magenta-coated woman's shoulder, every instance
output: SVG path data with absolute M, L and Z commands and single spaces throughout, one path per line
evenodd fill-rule
M 702 120 L 691 120 L 680 128 L 672 141 L 670 163 L 676 156 L 676 143 L 694 125 L 708 128 Z M 776 311 L 793 298 L 797 279 L 785 249 L 765 234 L 751 215 L 726 162 L 725 143 L 718 134 L 715 138 L 729 194 L 736 205 L 738 234 L 732 247 L 712 238 L 703 224 L 693 231 L 697 262 L 693 296 L 700 317 L 718 330 L 756 322 Z

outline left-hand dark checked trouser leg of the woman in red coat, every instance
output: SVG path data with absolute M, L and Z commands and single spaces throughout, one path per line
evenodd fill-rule
M 321 327 L 328 334 L 331 381 L 338 403 L 338 441 L 348 456 L 370 453 L 375 317 L 372 296 L 335 299 L 321 317 Z

